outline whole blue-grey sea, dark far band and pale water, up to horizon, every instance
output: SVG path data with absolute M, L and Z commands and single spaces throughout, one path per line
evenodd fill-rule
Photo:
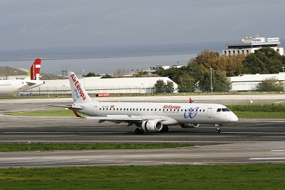
M 41 58 L 41 73 L 62 75 L 73 71 L 78 76 L 115 74 L 118 71 L 147 70 L 152 66 L 186 66 L 205 49 L 222 54 L 224 42 L 187 44 L 147 44 L 0 50 L 0 66 L 29 69 Z M 132 71 L 133 70 L 133 71 Z

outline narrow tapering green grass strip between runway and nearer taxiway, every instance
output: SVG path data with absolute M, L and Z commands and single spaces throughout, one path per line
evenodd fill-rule
M 88 149 L 167 149 L 188 147 L 190 144 L 0 144 L 0 151 L 56 151 Z

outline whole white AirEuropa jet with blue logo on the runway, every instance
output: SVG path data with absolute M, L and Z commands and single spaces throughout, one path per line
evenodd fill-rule
M 73 104 L 70 109 L 88 115 L 86 119 L 96 119 L 99 123 L 111 121 L 136 126 L 135 134 L 167 132 L 168 126 L 197 128 L 199 124 L 219 126 L 238 121 L 237 116 L 221 104 L 195 103 L 146 103 L 146 102 L 99 102 L 91 99 L 78 80 L 76 74 L 68 72 Z

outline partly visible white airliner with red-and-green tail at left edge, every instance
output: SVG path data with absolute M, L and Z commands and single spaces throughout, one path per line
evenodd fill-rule
M 40 69 L 41 58 L 38 58 L 33 62 L 25 79 L 0 80 L 0 94 L 14 94 L 44 84 L 44 81 L 39 80 Z

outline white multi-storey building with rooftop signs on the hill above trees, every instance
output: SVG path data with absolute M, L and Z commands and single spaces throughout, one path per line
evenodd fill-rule
M 227 56 L 237 55 L 237 54 L 252 54 L 256 50 L 271 47 L 277 51 L 282 56 L 284 55 L 284 48 L 281 47 L 281 42 L 279 38 L 265 38 L 260 36 L 246 37 L 242 39 L 242 43 L 239 44 L 226 44 L 227 49 L 222 51 L 222 54 Z

